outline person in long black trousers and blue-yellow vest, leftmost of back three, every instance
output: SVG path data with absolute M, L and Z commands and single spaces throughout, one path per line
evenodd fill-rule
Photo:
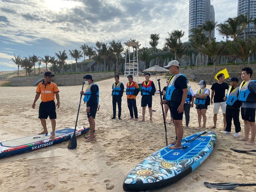
M 115 119 L 116 115 L 116 103 L 118 106 L 118 120 L 121 119 L 121 104 L 122 104 L 122 96 L 123 92 L 125 90 L 125 87 L 123 86 L 123 83 L 119 82 L 119 75 L 115 75 L 115 83 L 112 85 L 112 106 L 113 106 L 113 117 L 111 119 Z

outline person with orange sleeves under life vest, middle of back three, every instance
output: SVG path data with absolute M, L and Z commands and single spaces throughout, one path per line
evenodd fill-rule
M 139 85 L 133 81 L 133 75 L 129 75 L 128 83 L 126 84 L 126 95 L 127 95 L 127 104 L 130 111 L 130 118 L 133 119 L 133 112 L 135 116 L 135 121 L 138 121 L 138 109 L 136 106 L 136 96 L 139 94 Z

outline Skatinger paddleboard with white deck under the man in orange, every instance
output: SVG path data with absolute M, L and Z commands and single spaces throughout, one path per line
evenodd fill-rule
M 0 142 L 0 158 L 26 153 L 43 147 L 51 146 L 65 140 L 69 140 L 74 134 L 74 129 L 75 127 L 57 130 L 55 131 L 54 139 L 50 139 L 50 136 L 52 135 L 52 132 L 50 132 L 46 134 L 38 134 L 35 136 L 27 136 Z M 75 136 L 79 136 L 89 130 L 89 127 L 77 127 Z

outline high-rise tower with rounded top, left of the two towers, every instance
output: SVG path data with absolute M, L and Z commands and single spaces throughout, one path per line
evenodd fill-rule
M 211 0 L 189 0 L 189 38 L 192 35 L 191 29 L 209 20 L 215 22 L 214 6 L 211 5 Z M 214 35 L 212 31 L 212 38 Z

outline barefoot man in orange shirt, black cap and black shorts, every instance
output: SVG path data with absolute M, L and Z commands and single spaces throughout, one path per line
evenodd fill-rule
M 54 77 L 54 75 L 50 71 L 47 71 L 44 73 L 44 81 L 38 84 L 37 90 L 36 90 L 37 94 L 35 96 L 35 100 L 32 105 L 32 108 L 35 109 L 36 102 L 41 94 L 42 102 L 40 103 L 40 106 L 39 106 L 38 118 L 42 123 L 42 127 L 44 128 L 44 131 L 40 132 L 39 134 L 48 133 L 45 119 L 47 119 L 49 116 L 52 123 L 52 135 L 50 136 L 50 139 L 54 139 L 55 137 L 56 107 L 57 109 L 60 107 L 60 96 L 59 96 L 60 91 L 58 89 L 58 86 L 55 83 L 51 82 L 52 77 Z M 56 106 L 54 102 L 55 95 L 57 99 Z

